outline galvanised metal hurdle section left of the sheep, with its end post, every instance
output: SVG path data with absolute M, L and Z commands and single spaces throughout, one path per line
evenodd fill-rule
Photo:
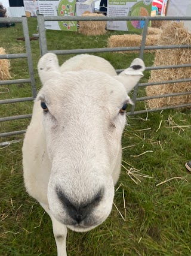
M 23 26 L 23 35 L 26 47 L 26 53 L 16 53 L 16 54 L 7 54 L 0 55 L 0 59 L 20 59 L 27 58 L 27 65 L 29 69 L 29 78 L 28 79 L 13 79 L 13 80 L 4 80 L 0 81 L 1 85 L 14 85 L 18 83 L 30 83 L 32 89 L 32 97 L 26 98 L 13 98 L 7 100 L 0 100 L 0 104 L 10 104 L 10 103 L 21 103 L 24 101 L 33 101 L 36 98 L 36 86 L 35 86 L 35 76 L 33 72 L 33 64 L 32 64 L 32 53 L 30 49 L 30 38 L 29 38 L 29 29 L 27 25 L 27 17 L 10 17 L 10 18 L 1 18 L 1 23 L 22 23 Z M 18 115 L 18 116 L 7 116 L 5 118 L 0 118 L 0 122 L 12 121 L 17 119 L 31 118 L 31 114 L 29 115 Z M 20 131 L 11 131 L 0 133 L 0 137 L 8 137 L 11 135 L 23 134 L 25 130 Z M 1 143 L 0 143 L 1 145 Z

